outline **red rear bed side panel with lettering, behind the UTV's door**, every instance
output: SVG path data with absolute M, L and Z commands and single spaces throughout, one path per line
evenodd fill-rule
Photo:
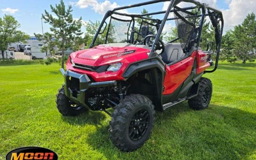
M 196 74 L 202 73 L 206 68 L 210 67 L 209 63 L 209 53 L 204 53 L 202 50 L 197 51 L 196 61 L 197 61 L 197 71 Z

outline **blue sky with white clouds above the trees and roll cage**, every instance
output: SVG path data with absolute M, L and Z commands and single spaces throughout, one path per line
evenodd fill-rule
M 72 5 L 73 17 L 82 17 L 84 24 L 89 20 L 102 20 L 106 11 L 118 6 L 132 5 L 145 2 L 146 0 L 63 0 L 66 5 Z M 223 12 L 224 31 L 232 29 L 241 24 L 243 19 L 251 13 L 256 13 L 256 0 L 198 0 L 207 3 Z M 41 16 L 44 10 L 50 11 L 50 5 L 55 6 L 60 0 L 0 0 L 0 17 L 4 14 L 14 16 L 20 23 L 19 30 L 30 36 L 34 33 L 42 33 Z M 166 9 L 168 2 L 148 5 L 143 7 L 149 12 L 162 11 Z M 185 6 L 180 4 L 180 6 Z M 126 13 L 140 13 L 141 7 L 125 10 Z M 162 15 L 163 17 L 163 15 Z M 49 25 L 43 23 L 44 32 L 50 31 Z M 168 24 L 166 25 L 168 27 Z M 171 24 L 169 24 L 169 27 Z M 85 31 L 85 27 L 82 28 Z

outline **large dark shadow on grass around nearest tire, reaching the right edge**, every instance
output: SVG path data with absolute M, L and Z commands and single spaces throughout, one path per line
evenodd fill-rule
M 86 141 L 108 159 L 246 159 L 256 149 L 255 126 L 256 114 L 250 112 L 218 105 L 194 111 L 182 103 L 158 112 L 151 137 L 132 153 L 112 144 L 108 125 L 97 126 Z

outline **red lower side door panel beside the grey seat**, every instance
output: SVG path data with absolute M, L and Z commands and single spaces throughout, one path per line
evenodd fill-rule
M 194 64 L 196 51 L 185 60 L 165 67 L 166 75 L 163 82 L 165 87 L 163 94 L 173 93 L 190 75 Z

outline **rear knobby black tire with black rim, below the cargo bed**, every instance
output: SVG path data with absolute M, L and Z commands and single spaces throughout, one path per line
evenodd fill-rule
M 208 78 L 201 78 L 199 81 L 198 95 L 188 100 L 188 105 L 194 110 L 206 109 L 212 98 L 212 82 Z

